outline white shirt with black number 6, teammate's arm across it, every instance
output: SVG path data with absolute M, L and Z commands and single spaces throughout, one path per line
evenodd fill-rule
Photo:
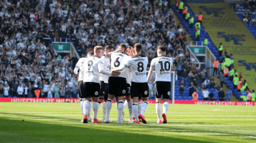
M 127 61 L 130 60 L 130 57 L 124 53 L 124 52 L 115 52 L 111 54 L 111 68 L 115 70 L 115 68 L 120 67 L 121 65 L 125 65 Z M 119 76 L 115 77 L 121 77 L 126 78 L 126 72 L 125 70 L 120 71 Z

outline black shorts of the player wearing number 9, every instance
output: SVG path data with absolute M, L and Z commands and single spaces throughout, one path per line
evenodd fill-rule
M 100 97 L 100 83 L 83 83 L 84 97 Z

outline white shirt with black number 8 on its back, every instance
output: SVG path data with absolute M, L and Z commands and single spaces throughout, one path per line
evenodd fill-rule
M 132 81 L 136 83 L 146 83 L 146 67 L 148 65 L 148 57 L 145 55 L 133 55 L 129 62 L 133 72 Z

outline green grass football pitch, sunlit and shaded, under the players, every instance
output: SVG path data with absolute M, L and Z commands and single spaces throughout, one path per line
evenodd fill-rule
M 148 104 L 148 124 L 116 124 L 113 104 L 112 123 L 83 124 L 80 103 L 0 103 L 0 142 L 256 142 L 255 109 L 170 104 L 168 124 L 156 124 L 155 104 Z

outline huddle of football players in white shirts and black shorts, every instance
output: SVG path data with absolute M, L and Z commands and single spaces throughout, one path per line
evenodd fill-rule
M 165 48 L 163 46 L 158 47 L 158 57 L 151 61 L 148 77 L 146 76 L 148 57 L 141 54 L 141 44 L 135 44 L 135 48 L 130 46 L 126 48 L 125 44 L 120 44 L 114 52 L 113 47 L 107 45 L 104 51 L 105 55 L 103 55 L 102 47 L 94 47 L 94 53 L 88 52 L 87 58 L 80 58 L 73 70 L 78 78 L 78 93 L 81 98 L 80 107 L 83 114 L 82 122 L 88 123 L 92 119 L 93 123 L 100 123 L 97 115 L 103 99 L 102 122 L 111 122 L 110 111 L 115 96 L 118 111 L 116 123 L 120 124 L 125 121 L 123 109 L 128 106 L 128 123 L 140 124 L 141 121 L 146 124 L 144 114 L 148 106 L 148 81 L 155 68 L 154 93 L 156 95 L 157 123 L 162 123 L 161 96 L 163 96 L 164 101 L 163 123 L 166 123 L 173 59 L 165 56 Z M 142 104 L 141 99 L 143 100 Z M 90 116 L 91 108 L 93 109 L 93 116 Z

